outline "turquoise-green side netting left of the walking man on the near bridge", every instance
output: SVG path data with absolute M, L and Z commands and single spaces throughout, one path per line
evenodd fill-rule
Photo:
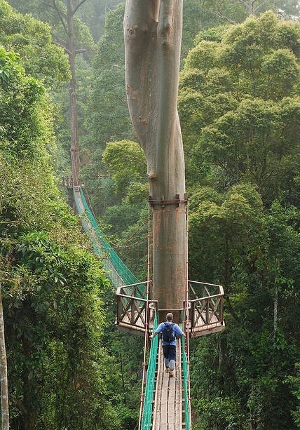
M 154 318 L 154 331 L 157 328 L 157 313 Z M 144 391 L 144 408 L 142 413 L 142 430 L 151 429 L 152 401 L 154 396 L 156 356 L 158 350 L 158 336 L 151 340 L 150 357 L 146 374 L 146 386 Z

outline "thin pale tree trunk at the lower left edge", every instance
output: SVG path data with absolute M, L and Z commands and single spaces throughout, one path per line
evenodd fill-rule
M 6 362 L 6 346 L 4 335 L 4 315 L 0 285 L 0 376 L 1 376 L 1 429 L 9 429 L 8 378 Z

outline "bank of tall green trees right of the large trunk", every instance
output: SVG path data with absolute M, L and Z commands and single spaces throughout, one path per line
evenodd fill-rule
M 226 332 L 192 344 L 197 429 L 296 428 L 298 37 L 270 12 L 207 30 L 182 72 L 190 278 L 226 291 Z

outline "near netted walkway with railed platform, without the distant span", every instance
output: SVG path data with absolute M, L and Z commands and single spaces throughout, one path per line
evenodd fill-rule
M 117 289 L 117 327 L 144 335 L 145 351 L 149 334 L 163 321 L 163 313 L 156 300 L 149 300 L 144 291 L 147 283 L 125 285 Z M 147 288 L 146 288 L 147 287 Z M 189 382 L 189 338 L 224 330 L 221 285 L 189 281 L 189 297 L 179 315 L 179 323 L 186 335 L 177 341 L 176 374 L 169 377 L 163 370 L 163 353 L 158 336 L 151 341 L 149 362 L 144 358 L 143 389 L 139 430 L 191 429 Z M 145 355 L 146 357 L 146 355 Z

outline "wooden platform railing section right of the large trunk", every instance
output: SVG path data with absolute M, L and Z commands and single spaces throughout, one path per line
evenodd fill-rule
M 224 290 L 221 285 L 189 281 L 189 331 L 191 336 L 224 330 Z

